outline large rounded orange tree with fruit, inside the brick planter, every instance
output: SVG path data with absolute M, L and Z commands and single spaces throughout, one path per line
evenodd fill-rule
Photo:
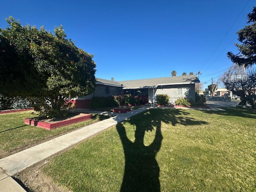
M 49 117 L 64 116 L 72 98 L 96 86 L 93 55 L 75 46 L 62 28 L 22 26 L 10 17 L 0 29 L 0 93 L 32 96 L 35 109 Z

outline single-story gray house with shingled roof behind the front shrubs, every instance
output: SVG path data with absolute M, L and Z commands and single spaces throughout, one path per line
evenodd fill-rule
M 94 96 L 107 97 L 123 94 L 148 97 L 148 103 L 154 103 L 158 94 L 168 94 L 170 103 L 181 97 L 195 100 L 195 84 L 200 83 L 196 75 L 174 76 L 164 78 L 110 81 L 96 78 L 97 86 L 90 95 L 75 99 L 76 108 L 90 108 L 90 99 Z

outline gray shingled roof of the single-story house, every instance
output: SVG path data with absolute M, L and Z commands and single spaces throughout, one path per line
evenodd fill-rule
M 123 84 L 124 89 L 131 88 L 147 88 L 156 87 L 160 85 L 173 85 L 173 84 L 194 84 L 200 83 L 196 75 L 187 76 L 174 76 L 174 77 L 160 77 L 152 79 L 139 79 L 139 80 L 127 80 L 127 81 L 110 81 L 100 78 L 96 78 L 100 84 L 121 86 Z

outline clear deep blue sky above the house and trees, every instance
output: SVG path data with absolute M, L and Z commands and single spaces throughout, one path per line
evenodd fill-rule
M 200 71 L 205 88 L 238 53 L 236 32 L 254 0 L 12 0 L 1 2 L 0 28 L 62 25 L 67 38 L 94 54 L 96 77 L 134 80 Z

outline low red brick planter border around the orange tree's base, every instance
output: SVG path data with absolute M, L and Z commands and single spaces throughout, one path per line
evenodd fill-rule
M 36 127 L 40 127 L 40 128 L 44 128 L 47 130 L 51 130 L 51 129 L 55 129 L 58 127 L 63 127 L 63 126 L 67 126 L 70 124 L 74 124 L 77 122 L 82 122 L 82 121 L 86 121 L 86 120 L 90 120 L 92 118 L 92 114 L 80 114 L 79 117 L 76 118 L 70 118 L 67 120 L 62 120 L 62 121 L 50 121 L 50 122 L 46 122 L 45 120 L 34 120 L 34 119 L 25 119 L 24 123 L 27 125 L 31 125 L 31 126 L 36 126 Z

